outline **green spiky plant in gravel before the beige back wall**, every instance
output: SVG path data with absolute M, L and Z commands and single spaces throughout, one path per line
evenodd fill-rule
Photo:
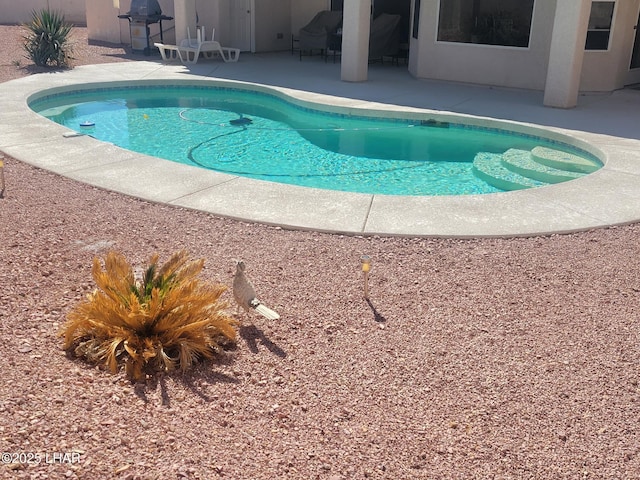
M 73 26 L 64 15 L 49 10 L 34 10 L 31 23 L 25 25 L 24 37 L 27 56 L 38 66 L 67 67 L 71 60 L 70 34 Z

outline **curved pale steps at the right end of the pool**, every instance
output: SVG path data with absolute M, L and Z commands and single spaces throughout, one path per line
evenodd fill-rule
M 506 191 L 566 182 L 599 168 L 588 159 L 547 147 L 512 148 L 502 154 L 480 152 L 473 161 L 476 177 Z

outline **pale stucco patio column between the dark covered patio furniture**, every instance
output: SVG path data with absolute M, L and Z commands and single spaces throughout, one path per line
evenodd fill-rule
M 369 70 L 371 0 L 344 0 L 342 61 L 340 77 L 346 82 L 364 82 Z

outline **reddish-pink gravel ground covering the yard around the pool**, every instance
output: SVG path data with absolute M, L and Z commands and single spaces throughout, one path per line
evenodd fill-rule
M 0 26 L 0 82 L 39 74 L 21 36 Z M 89 45 L 84 28 L 74 39 L 75 65 L 143 58 Z M 640 225 L 343 236 L 153 204 L 6 156 L 4 177 L 0 478 L 640 476 Z M 136 264 L 187 249 L 229 287 L 241 258 L 282 318 L 243 315 L 236 349 L 132 384 L 59 337 L 109 249 Z

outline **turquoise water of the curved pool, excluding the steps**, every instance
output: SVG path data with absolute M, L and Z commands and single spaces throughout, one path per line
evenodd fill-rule
M 87 90 L 30 104 L 122 148 L 232 175 L 389 195 L 498 192 L 476 177 L 479 152 L 549 146 L 542 138 L 425 120 L 324 113 L 261 92 L 216 87 Z

